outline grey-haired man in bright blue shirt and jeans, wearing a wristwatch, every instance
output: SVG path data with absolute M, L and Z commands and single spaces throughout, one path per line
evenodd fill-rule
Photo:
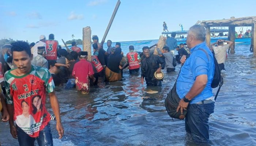
M 182 113 L 187 108 L 185 129 L 198 143 L 209 143 L 208 118 L 215 103 L 211 88 L 214 59 L 205 36 L 206 30 L 200 25 L 189 29 L 187 45 L 191 54 L 187 59 L 181 58 L 183 66 L 177 79 L 177 94 L 181 98 L 177 111 Z

